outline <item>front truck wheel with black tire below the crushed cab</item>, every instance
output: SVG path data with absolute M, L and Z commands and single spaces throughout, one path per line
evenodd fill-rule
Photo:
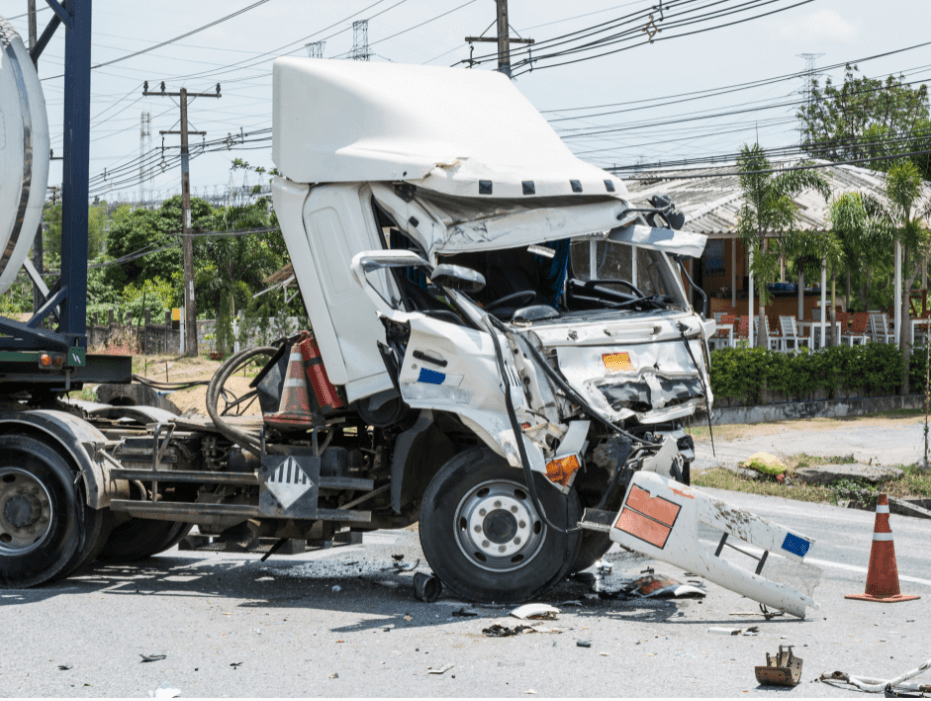
M 575 526 L 582 515 L 576 492 L 563 495 L 542 475 L 534 476 L 550 521 L 561 528 Z M 526 487 L 522 470 L 485 447 L 460 453 L 430 481 L 420 507 L 420 543 L 434 573 L 458 596 L 481 603 L 519 603 L 543 594 L 568 574 L 581 532 L 547 527 Z M 488 508 L 482 511 L 485 500 Z M 480 535 L 472 538 L 476 528 Z M 500 557 L 490 554 L 499 547 L 510 550 Z

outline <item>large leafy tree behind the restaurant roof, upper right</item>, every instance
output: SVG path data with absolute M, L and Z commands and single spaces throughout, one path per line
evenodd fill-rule
M 811 100 L 798 111 L 803 146 L 817 158 L 849 161 L 888 157 L 931 147 L 928 88 L 912 88 L 902 75 L 884 81 L 859 75 L 847 65 L 844 82 L 830 77 L 822 88 L 814 81 Z M 931 158 L 912 157 L 923 177 L 931 179 Z M 868 167 L 888 170 L 893 161 L 873 161 Z

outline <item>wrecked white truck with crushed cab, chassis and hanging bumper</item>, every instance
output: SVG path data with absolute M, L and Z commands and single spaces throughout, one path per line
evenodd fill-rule
M 671 203 L 631 206 L 498 73 L 279 59 L 273 131 L 312 332 L 224 363 L 209 419 L 7 402 L 0 585 L 143 557 L 193 524 L 326 542 L 419 521 L 469 600 L 539 596 L 618 542 L 804 616 L 810 572 L 773 573 L 812 539 L 687 486 L 713 322 L 679 264 L 704 237 Z M 255 399 L 261 418 L 237 416 Z M 754 571 L 724 557 L 737 541 Z

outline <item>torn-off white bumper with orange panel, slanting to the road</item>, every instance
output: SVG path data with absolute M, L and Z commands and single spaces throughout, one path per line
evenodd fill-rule
M 636 472 L 619 513 L 587 511 L 581 525 L 793 616 L 804 618 L 806 606 L 818 607 L 811 595 L 821 570 L 804 562 L 812 538 L 662 475 Z M 725 560 L 725 547 L 755 561 L 755 571 Z

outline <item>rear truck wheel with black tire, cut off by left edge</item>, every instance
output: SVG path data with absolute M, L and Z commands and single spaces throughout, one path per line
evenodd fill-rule
M 67 461 L 41 441 L 0 436 L 0 586 L 25 588 L 80 563 L 87 507 Z

